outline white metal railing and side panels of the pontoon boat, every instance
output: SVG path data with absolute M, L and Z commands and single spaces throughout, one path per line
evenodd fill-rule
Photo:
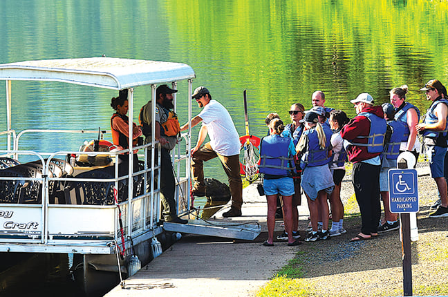
M 28 133 L 86 133 L 86 131 L 42 131 L 30 129 L 22 131 L 16 138 L 16 144 L 20 136 Z M 93 133 L 93 131 L 89 131 Z M 97 133 L 97 131 L 94 131 Z M 185 138 L 186 139 L 186 138 Z M 156 143 L 160 147 L 160 144 Z M 180 146 L 178 144 L 178 146 Z M 187 142 L 185 146 L 188 147 Z M 144 160 L 147 160 L 149 153 L 147 148 L 151 148 L 151 143 L 138 146 L 143 150 Z M 158 150 L 160 151 L 160 149 Z M 180 147 L 176 149 L 178 154 L 173 155 L 174 169 L 176 172 L 176 197 L 178 197 L 178 213 L 182 215 L 189 209 L 189 168 L 187 168 L 187 157 L 180 155 Z M 56 204 L 50 201 L 50 189 L 53 184 L 78 184 L 78 183 L 113 183 L 115 189 L 127 187 L 129 175 L 118 174 L 118 155 L 126 153 L 127 150 L 111 153 L 105 152 L 80 152 L 80 151 L 58 151 L 56 153 L 36 153 L 33 151 L 0 151 L 0 154 L 10 155 L 34 155 L 41 163 L 41 176 L 39 178 L 22 177 L 0 177 L 3 180 L 22 180 L 25 182 L 38 182 L 41 185 L 41 199 L 35 204 L 0 204 L 0 218 L 4 220 L 0 225 L 0 251 L 30 251 L 30 252 L 75 252 L 75 253 L 113 253 L 114 245 L 111 242 L 121 244 L 122 236 L 120 234 L 120 218 L 118 207 L 115 203 L 106 205 L 83 204 Z M 50 171 L 52 160 L 57 157 L 67 155 L 105 155 L 115 158 L 114 175 L 111 178 L 80 178 L 80 177 L 57 177 Z M 140 155 L 141 157 L 141 155 Z M 160 164 L 160 153 L 158 154 L 158 163 Z M 185 167 L 181 163 L 185 162 Z M 160 173 L 160 165 L 154 164 L 152 167 L 144 163 L 144 168 L 132 174 L 133 181 L 140 182 L 142 189 L 135 191 L 134 183 L 133 197 L 130 199 L 119 199 L 123 238 L 131 236 L 133 242 L 137 245 L 139 242 L 147 240 L 162 232 L 159 227 L 160 220 L 160 175 L 156 178 L 154 175 Z M 140 179 L 140 180 L 139 180 Z M 149 182 L 152 180 L 152 182 Z M 156 185 L 154 180 L 157 181 Z M 153 191 L 148 189 L 152 187 Z M 68 188 L 66 188 L 68 189 Z M 81 191 L 77 189 L 77 191 Z M 126 196 L 127 191 L 120 194 Z M 77 195 L 65 193 L 64 195 Z M 107 195 L 107 194 L 106 194 Z M 67 197 L 67 196 L 66 196 Z M 66 198 L 64 197 L 64 198 Z M 62 199 L 64 199 L 62 198 Z M 107 198 L 107 197 L 106 197 Z M 54 198 L 53 198 L 54 199 Z M 78 200 L 78 198 L 75 198 Z M 110 197 L 109 197 L 110 200 Z M 3 215 L 3 217 L 2 217 Z M 10 218 L 7 218 L 10 216 Z M 129 220 L 131 218 L 131 220 Z M 129 224 L 130 222 L 130 224 Z M 26 246 L 22 244 L 28 244 Z M 16 244 L 16 245 L 14 245 Z M 25 248 L 26 247 L 26 248 Z

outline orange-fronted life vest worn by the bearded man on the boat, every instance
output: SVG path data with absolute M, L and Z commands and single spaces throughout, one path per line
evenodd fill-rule
M 142 126 L 142 133 L 144 136 L 151 135 L 151 123 L 147 123 L 144 120 L 143 113 L 145 112 L 145 108 L 149 108 L 151 104 L 145 104 L 140 108 L 140 113 L 138 115 L 138 122 L 140 123 L 140 126 Z M 165 112 L 165 115 L 167 117 L 165 122 L 162 122 L 165 117 L 160 115 L 160 135 L 162 136 L 176 136 L 178 133 L 180 133 L 180 124 L 178 117 L 174 111 L 169 111 L 165 108 L 160 108 L 158 104 L 156 105 L 156 108 L 158 108 L 158 111 L 162 110 Z

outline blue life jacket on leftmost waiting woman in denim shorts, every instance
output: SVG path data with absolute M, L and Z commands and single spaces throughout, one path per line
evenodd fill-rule
M 260 173 L 288 176 L 288 171 L 292 170 L 289 166 L 292 161 L 292 157 L 289 157 L 290 142 L 289 137 L 280 135 L 269 135 L 261 139 Z

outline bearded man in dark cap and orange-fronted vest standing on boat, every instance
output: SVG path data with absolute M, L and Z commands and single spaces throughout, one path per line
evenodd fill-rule
M 174 180 L 173 165 L 171 164 L 171 151 L 177 144 L 180 125 L 176 113 L 172 110 L 173 93 L 178 90 L 169 88 L 166 84 L 156 89 L 156 140 L 160 142 L 162 151 L 160 153 L 160 199 L 162 200 L 162 215 L 166 222 L 187 224 L 187 220 L 178 217 L 176 211 L 176 200 L 174 191 L 176 181 Z M 151 100 L 145 104 L 139 115 L 143 135 L 146 137 L 144 143 L 151 142 Z M 156 150 L 155 156 L 158 155 Z M 151 164 L 151 153 L 148 153 L 148 162 Z

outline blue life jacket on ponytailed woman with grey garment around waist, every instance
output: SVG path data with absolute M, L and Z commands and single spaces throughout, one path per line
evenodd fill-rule
M 328 150 L 331 146 L 331 130 L 323 129 L 325 133 L 325 148 L 319 146 L 319 137 L 315 128 L 310 128 L 304 131 L 303 135 L 308 138 L 308 144 L 306 151 L 301 156 L 300 166 L 305 169 L 306 166 L 321 166 L 328 164 L 330 158 L 328 158 Z

